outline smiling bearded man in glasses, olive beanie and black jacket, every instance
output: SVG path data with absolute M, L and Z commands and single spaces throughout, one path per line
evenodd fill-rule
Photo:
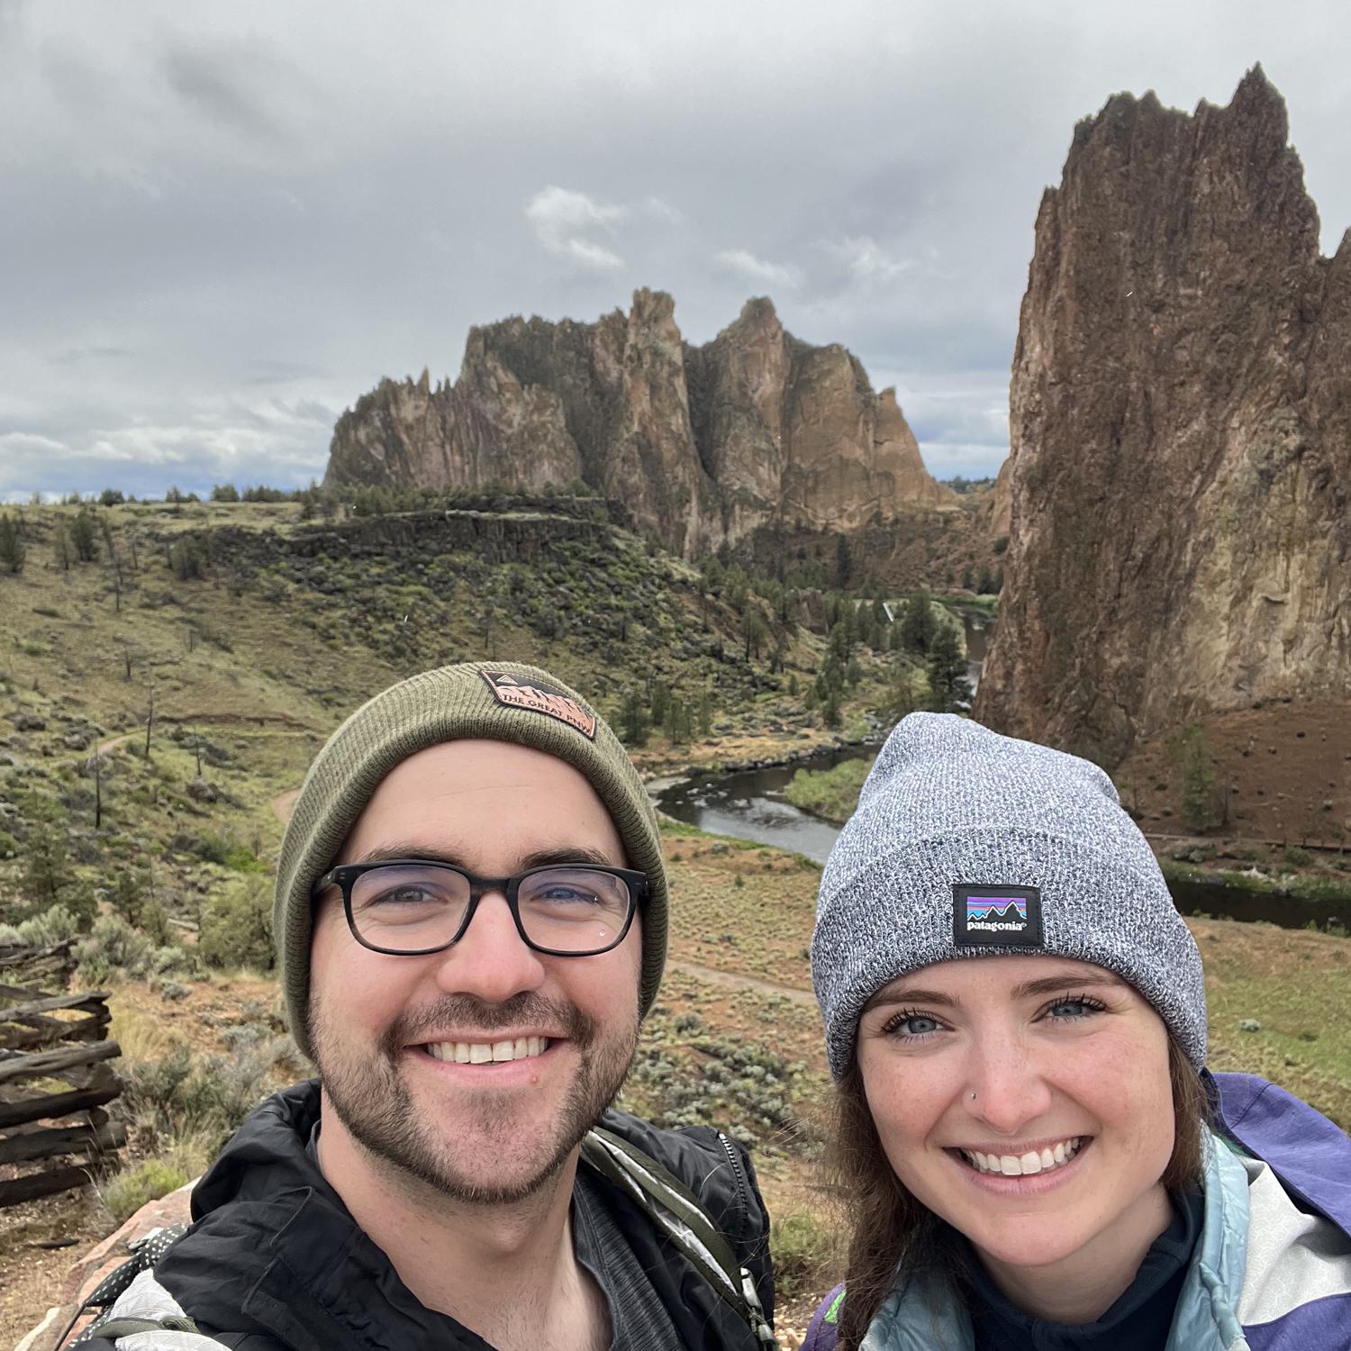
M 638 774 L 576 693 L 476 663 L 358 709 L 300 790 L 274 932 L 319 1079 L 250 1116 L 91 1346 L 769 1342 L 744 1152 L 607 1111 L 661 979 L 666 878 Z

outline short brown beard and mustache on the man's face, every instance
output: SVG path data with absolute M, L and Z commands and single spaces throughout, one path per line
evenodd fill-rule
M 315 1058 L 324 1092 L 347 1131 L 378 1159 L 392 1163 L 443 1196 L 471 1205 L 508 1205 L 523 1201 L 543 1188 L 566 1162 L 582 1136 L 600 1120 L 613 1101 L 638 1048 L 638 1019 L 632 1035 L 605 1044 L 600 1024 L 581 1009 L 523 992 L 503 1004 L 485 1004 L 467 994 L 447 996 L 416 1015 L 396 1019 L 380 1036 L 376 1052 L 358 1059 L 332 1043 L 323 1005 L 311 1011 Z M 470 1167 L 457 1169 L 450 1151 L 438 1138 L 426 1109 L 419 1111 L 399 1066 L 408 1047 L 424 1034 L 435 1036 L 446 1027 L 474 1028 L 488 1034 L 523 1025 L 543 1025 L 561 1031 L 578 1055 L 577 1074 L 540 1144 L 538 1167 L 505 1186 L 493 1186 L 469 1175 Z M 413 1051 L 412 1054 L 420 1054 Z M 503 1100 L 492 1089 L 474 1109 L 473 1124 L 489 1139 L 505 1136 L 511 1123 L 503 1117 Z M 482 1173 L 492 1173 L 496 1158 L 485 1151 L 478 1161 Z

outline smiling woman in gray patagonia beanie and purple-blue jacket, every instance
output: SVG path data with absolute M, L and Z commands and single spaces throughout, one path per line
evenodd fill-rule
M 1200 954 L 1100 769 L 907 717 L 812 975 L 852 1233 L 811 1351 L 1351 1348 L 1351 1140 L 1205 1071 Z

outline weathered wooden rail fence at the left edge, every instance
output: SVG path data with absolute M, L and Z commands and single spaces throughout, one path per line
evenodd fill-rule
M 63 993 L 73 967 L 69 943 L 0 947 L 0 1208 L 84 1186 L 127 1142 L 104 1111 L 122 1092 L 108 997 Z

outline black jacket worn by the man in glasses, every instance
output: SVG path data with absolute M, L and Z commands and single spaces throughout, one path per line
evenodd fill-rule
M 481 1337 L 424 1308 L 347 1213 L 305 1148 L 317 1117 L 315 1079 L 263 1102 L 197 1183 L 195 1223 L 154 1279 L 203 1332 L 240 1351 L 485 1351 Z M 659 1131 L 621 1112 L 607 1112 L 601 1124 L 700 1198 L 773 1320 L 769 1220 L 744 1150 L 704 1127 Z M 751 1351 L 755 1339 L 738 1313 L 630 1197 L 594 1177 L 685 1344 Z M 107 1339 L 84 1346 L 113 1351 Z

